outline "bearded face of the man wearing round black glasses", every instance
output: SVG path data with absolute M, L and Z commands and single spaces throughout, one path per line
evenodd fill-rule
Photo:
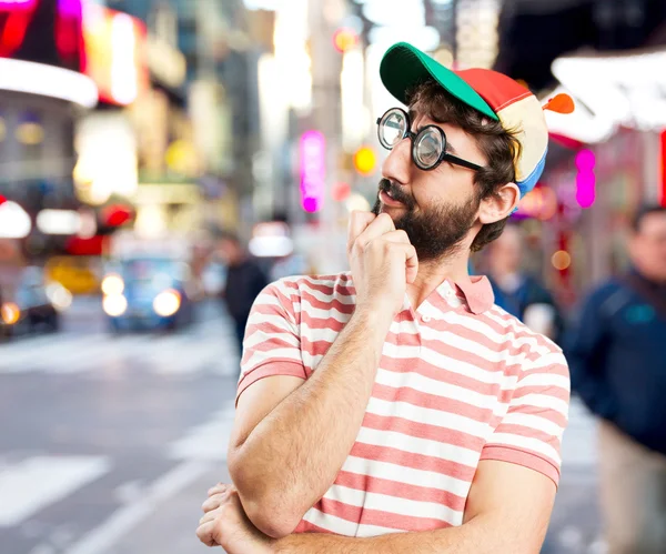
M 476 141 L 457 127 L 435 123 L 417 113 L 412 131 L 418 132 L 428 124 L 437 124 L 444 131 L 447 151 L 478 165 L 486 164 Z M 442 259 L 465 239 L 471 243 L 481 228 L 474 171 L 446 161 L 435 170 L 423 171 L 413 163 L 411 152 L 412 141 L 404 139 L 386 158 L 373 212 L 391 215 L 396 229 L 407 233 L 421 261 Z

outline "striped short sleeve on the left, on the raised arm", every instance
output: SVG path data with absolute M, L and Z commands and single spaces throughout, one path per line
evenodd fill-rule
M 256 298 L 243 340 L 239 396 L 256 381 L 291 375 L 306 379 L 296 322 L 297 290 L 285 280 L 266 286 Z

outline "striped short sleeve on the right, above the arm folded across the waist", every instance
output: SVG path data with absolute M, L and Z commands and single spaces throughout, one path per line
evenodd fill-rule
M 506 415 L 486 442 L 481 460 L 523 465 L 543 473 L 558 485 L 569 389 L 568 367 L 561 352 L 528 362 Z

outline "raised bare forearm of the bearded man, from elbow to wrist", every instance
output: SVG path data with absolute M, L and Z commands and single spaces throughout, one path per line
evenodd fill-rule
M 256 510 L 300 518 L 333 483 L 363 422 L 389 325 L 354 314 L 312 376 L 239 445 L 232 476 L 260 528 Z

